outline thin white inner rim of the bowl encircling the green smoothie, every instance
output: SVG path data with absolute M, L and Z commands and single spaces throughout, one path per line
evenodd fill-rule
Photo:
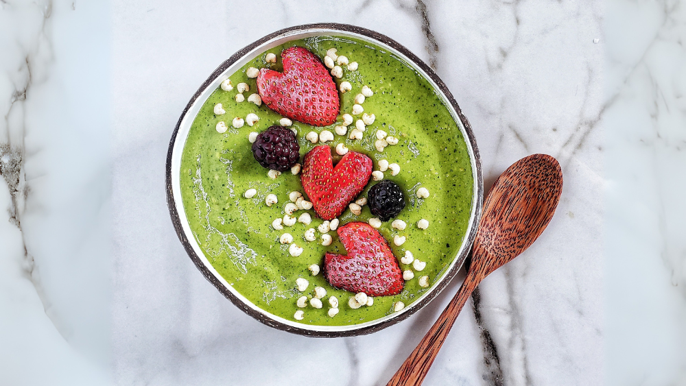
M 305 32 L 306 31 L 306 32 Z M 188 219 L 186 217 L 186 211 L 183 207 L 183 201 L 181 199 L 181 186 L 180 186 L 180 169 L 181 169 L 181 156 L 183 153 L 183 148 L 185 146 L 186 140 L 188 138 L 188 134 L 191 129 L 191 125 L 193 124 L 193 121 L 196 119 L 196 116 L 198 115 L 198 112 L 200 111 L 200 108 L 202 105 L 205 103 L 205 101 L 209 98 L 209 96 L 220 86 L 222 81 L 226 79 L 230 74 L 233 74 L 235 71 L 241 69 L 246 63 L 250 62 L 250 60 L 253 60 L 257 56 L 261 55 L 264 51 L 274 48 L 276 46 L 282 45 L 283 43 L 287 43 L 289 40 L 298 40 L 298 39 L 303 39 L 303 38 L 309 38 L 311 36 L 341 36 L 341 37 L 352 37 L 352 38 L 357 38 L 359 40 L 367 41 L 369 43 L 372 43 L 374 45 L 377 45 L 378 47 L 381 47 L 388 52 L 392 53 L 394 56 L 397 56 L 401 60 L 405 62 L 405 64 L 410 65 L 412 69 L 417 71 L 420 75 L 422 75 L 428 82 L 431 84 L 432 87 L 434 87 L 434 90 L 438 93 L 438 96 L 442 100 L 443 104 L 447 107 L 449 110 L 451 116 L 453 119 L 458 123 L 458 126 L 460 128 L 460 132 L 462 132 L 462 137 L 464 138 L 464 141 L 466 142 L 467 145 L 467 150 L 469 152 L 469 158 L 471 162 L 471 167 L 472 167 L 472 176 L 473 176 L 473 193 L 472 193 L 472 208 L 471 208 L 471 215 L 469 217 L 469 224 L 467 229 L 469 232 L 475 232 L 475 229 L 473 229 L 473 222 L 474 222 L 474 217 L 476 213 L 476 205 L 477 205 L 477 194 L 478 194 L 478 186 L 477 186 L 477 166 L 476 166 L 476 161 L 473 153 L 473 149 L 471 147 L 471 143 L 469 143 L 469 137 L 467 136 L 467 133 L 464 131 L 464 125 L 462 124 L 462 121 L 460 120 L 460 117 L 458 117 L 457 112 L 453 108 L 453 106 L 447 101 L 447 98 L 445 95 L 440 91 L 440 88 L 438 88 L 438 85 L 434 83 L 433 80 L 431 80 L 431 77 L 427 75 L 422 69 L 414 66 L 414 62 L 410 60 L 410 58 L 407 58 L 403 53 L 396 51 L 395 49 L 388 47 L 388 45 L 385 45 L 375 39 L 369 38 L 368 36 L 364 35 L 359 35 L 355 34 L 352 32 L 346 32 L 346 31 L 340 31 L 338 29 L 326 29 L 326 28 L 312 28 L 312 29 L 303 29 L 301 31 L 291 31 L 287 32 L 285 34 L 282 34 L 280 36 L 276 36 L 272 38 L 271 40 L 268 40 L 265 42 L 263 45 L 260 45 L 259 47 L 255 47 L 255 49 L 252 49 L 252 51 L 248 52 L 243 58 L 240 58 L 232 64 L 228 69 L 226 69 L 224 72 L 222 72 L 219 76 L 207 86 L 200 95 L 198 95 L 198 98 L 196 101 L 193 102 L 193 105 L 189 110 L 186 112 L 184 115 L 178 133 L 176 135 L 176 141 L 174 141 L 174 149 L 172 150 L 171 154 L 171 189 L 172 193 L 174 195 L 174 203 L 176 204 L 176 211 L 178 212 L 178 217 L 179 221 L 182 225 L 183 232 L 186 235 L 186 238 L 188 239 L 189 243 L 191 244 L 193 250 L 196 252 L 198 257 L 200 258 L 200 261 L 204 264 L 204 266 L 209 269 L 209 271 L 219 280 L 222 285 L 228 291 L 233 293 L 241 302 L 244 304 L 248 305 L 251 309 L 254 309 L 255 311 L 269 317 L 270 319 L 274 319 L 276 322 L 281 322 L 283 324 L 286 324 L 287 326 L 293 326 L 296 328 L 302 328 L 304 330 L 312 330 L 312 331 L 321 331 L 321 332 L 336 332 L 336 331 L 350 331 L 350 330 L 357 330 L 359 328 L 366 328 L 369 326 L 373 326 L 375 324 L 379 324 L 381 322 L 385 322 L 388 319 L 392 319 L 394 317 L 397 317 L 398 315 L 401 315 L 402 313 L 405 313 L 409 311 L 410 309 L 413 309 L 414 306 L 418 305 L 421 303 L 421 301 L 429 296 L 431 293 L 436 291 L 436 288 L 440 283 L 445 280 L 446 273 L 449 272 L 453 266 L 457 263 L 457 256 L 460 256 L 462 252 L 464 252 L 464 248 L 467 248 L 468 245 L 464 243 L 464 241 L 469 239 L 470 234 L 465 234 L 464 237 L 462 238 L 462 245 L 460 245 L 460 250 L 458 250 L 457 254 L 455 257 L 453 257 L 453 260 L 451 261 L 450 265 L 447 267 L 444 267 L 440 271 L 440 279 L 434 282 L 431 285 L 431 289 L 429 291 L 425 291 L 419 298 L 414 300 L 410 306 L 405 307 L 405 309 L 399 311 L 399 312 L 394 312 L 390 313 L 390 315 L 386 315 L 384 317 L 381 317 L 379 319 L 372 320 L 370 322 L 365 322 L 362 324 L 351 324 L 348 326 L 315 326 L 311 324 L 303 324 L 303 323 L 298 323 L 293 320 L 289 319 L 284 319 L 283 317 L 274 315 L 268 311 L 265 311 L 261 309 L 260 307 L 256 306 L 250 300 L 244 297 L 244 295 L 241 295 L 236 289 L 234 289 L 231 285 L 228 284 L 228 282 L 217 272 L 217 270 L 211 265 L 211 263 L 208 261 L 206 258 L 204 252 L 200 248 L 200 245 L 198 245 L 198 242 L 196 241 L 196 238 L 193 236 L 193 232 L 191 231 L 191 228 L 189 226 Z M 346 303 L 346 302 L 344 302 Z M 345 304 L 343 305 L 345 306 Z M 295 304 L 294 304 L 294 312 L 296 310 Z

